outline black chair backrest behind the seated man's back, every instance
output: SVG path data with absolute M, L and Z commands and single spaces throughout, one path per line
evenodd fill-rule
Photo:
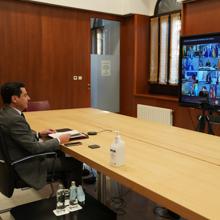
M 7 197 L 11 197 L 15 184 L 16 174 L 13 167 L 10 165 L 6 146 L 4 142 L 3 128 L 0 126 L 0 192 Z

